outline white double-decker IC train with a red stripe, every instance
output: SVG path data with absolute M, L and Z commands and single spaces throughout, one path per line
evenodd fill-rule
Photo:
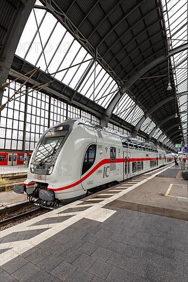
M 24 191 L 38 204 L 70 202 L 87 191 L 117 184 L 172 163 L 173 154 L 124 134 L 68 119 L 44 132 L 34 149 Z

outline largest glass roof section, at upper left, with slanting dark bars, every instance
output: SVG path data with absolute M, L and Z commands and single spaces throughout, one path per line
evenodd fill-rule
M 45 10 L 32 10 L 15 54 L 104 108 L 118 91 L 115 80 Z

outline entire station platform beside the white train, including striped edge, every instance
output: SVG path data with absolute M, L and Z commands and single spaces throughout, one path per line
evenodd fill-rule
M 168 165 L 1 231 L 1 280 L 187 281 L 180 173 Z

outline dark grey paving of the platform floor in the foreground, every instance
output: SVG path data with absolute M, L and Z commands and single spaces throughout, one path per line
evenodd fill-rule
M 103 207 L 103 222 L 82 218 L 1 267 L 1 281 L 185 282 L 187 222 Z M 31 238 L 23 231 L 5 242 Z M 3 239 L 4 241 L 4 239 Z M 13 249 L 5 250 L 11 252 Z M 3 256 L 2 253 L 1 256 Z

